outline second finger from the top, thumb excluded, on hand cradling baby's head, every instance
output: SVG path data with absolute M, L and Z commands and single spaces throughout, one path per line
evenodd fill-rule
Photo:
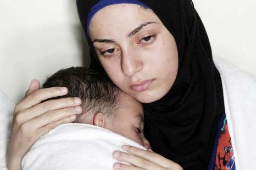
M 81 99 L 78 97 L 52 99 L 52 100 L 37 104 L 34 107 L 25 109 L 23 112 L 17 114 L 16 116 L 17 117 L 19 116 L 19 122 L 22 124 L 23 122 L 36 118 L 37 116 L 43 113 L 46 113 L 49 110 L 76 107 L 80 104 L 81 104 Z

